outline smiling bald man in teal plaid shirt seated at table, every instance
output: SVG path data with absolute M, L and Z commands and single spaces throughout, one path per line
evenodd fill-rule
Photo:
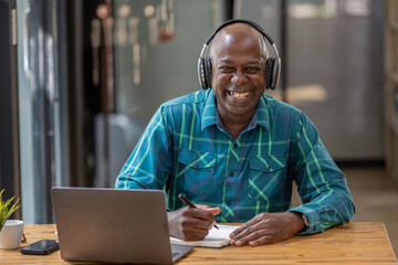
M 170 234 L 201 240 L 244 223 L 232 245 L 262 245 L 349 222 L 343 172 L 298 109 L 264 94 L 268 51 L 250 21 L 216 32 L 208 89 L 165 103 L 123 167 L 117 189 L 163 189 Z M 291 209 L 292 183 L 303 204 Z M 198 208 L 178 200 L 184 193 Z

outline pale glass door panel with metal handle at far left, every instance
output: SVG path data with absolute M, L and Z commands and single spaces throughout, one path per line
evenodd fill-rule
M 18 105 L 22 218 L 51 223 L 51 187 L 61 182 L 56 1 L 17 1 Z

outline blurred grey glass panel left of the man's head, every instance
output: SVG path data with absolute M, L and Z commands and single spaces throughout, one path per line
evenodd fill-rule
M 95 117 L 95 186 L 114 186 L 161 103 L 200 89 L 198 57 L 207 36 L 224 20 L 223 4 L 222 0 L 114 0 L 96 8 L 91 22 L 92 78 L 101 87 L 101 62 L 105 68 L 111 64 L 107 81 L 114 85 L 101 87 L 107 104 Z M 114 52 L 106 54 L 106 49 Z

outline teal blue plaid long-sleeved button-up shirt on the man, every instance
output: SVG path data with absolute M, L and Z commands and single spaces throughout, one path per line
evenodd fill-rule
M 291 209 L 295 181 L 303 204 Z M 163 189 L 167 206 L 221 208 L 217 222 L 247 222 L 261 212 L 305 213 L 303 234 L 349 222 L 355 209 L 343 172 L 311 120 L 263 95 L 248 127 L 233 139 L 212 89 L 160 106 L 123 167 L 116 189 Z

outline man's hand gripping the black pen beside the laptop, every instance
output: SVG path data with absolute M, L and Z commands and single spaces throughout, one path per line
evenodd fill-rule
M 167 212 L 170 235 L 184 241 L 203 240 L 211 229 L 220 208 L 198 205 L 185 206 L 174 212 Z

